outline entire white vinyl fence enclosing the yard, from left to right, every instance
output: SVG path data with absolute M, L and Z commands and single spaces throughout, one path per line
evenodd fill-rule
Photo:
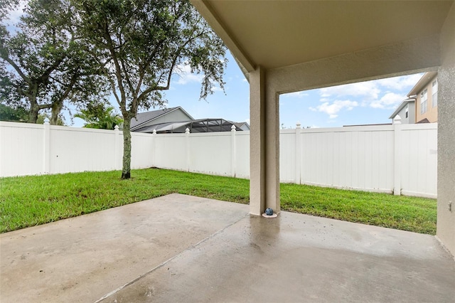
M 0 176 L 122 169 L 121 131 L 0 122 Z M 132 133 L 132 169 L 249 178 L 250 132 Z M 437 197 L 437 124 L 280 133 L 282 182 Z

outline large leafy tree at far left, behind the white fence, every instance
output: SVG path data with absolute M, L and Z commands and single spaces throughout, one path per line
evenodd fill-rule
M 102 91 L 77 28 L 67 0 L 30 0 L 15 26 L 0 26 L 2 102 L 26 107 L 28 122 L 50 110 L 50 124 L 57 124 L 65 100 L 87 102 Z

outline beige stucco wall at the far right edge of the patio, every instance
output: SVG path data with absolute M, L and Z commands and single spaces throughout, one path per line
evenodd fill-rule
M 438 70 L 437 237 L 455 256 L 455 4 L 441 31 Z

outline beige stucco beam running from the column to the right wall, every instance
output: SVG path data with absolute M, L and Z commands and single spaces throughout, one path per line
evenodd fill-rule
M 437 70 L 439 35 L 267 70 L 267 85 L 281 93 Z

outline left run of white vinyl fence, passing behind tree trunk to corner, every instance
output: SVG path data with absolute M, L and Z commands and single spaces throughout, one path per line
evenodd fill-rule
M 132 134 L 132 168 L 152 166 L 153 139 Z M 122 169 L 118 130 L 0 122 L 0 176 Z

